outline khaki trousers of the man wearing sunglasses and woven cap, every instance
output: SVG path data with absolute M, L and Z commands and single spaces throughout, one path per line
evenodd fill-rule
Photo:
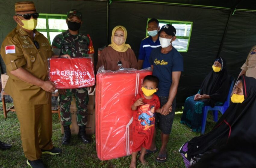
M 41 149 L 50 150 L 52 145 L 52 105 L 25 104 L 14 101 L 14 107 L 20 122 L 22 147 L 25 157 L 40 159 Z

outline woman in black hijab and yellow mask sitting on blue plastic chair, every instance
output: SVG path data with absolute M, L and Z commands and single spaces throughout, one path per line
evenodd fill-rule
M 226 101 L 229 87 L 226 61 L 219 57 L 214 61 L 198 93 L 186 99 L 180 123 L 189 126 L 193 132 L 200 132 L 203 107 L 222 105 Z

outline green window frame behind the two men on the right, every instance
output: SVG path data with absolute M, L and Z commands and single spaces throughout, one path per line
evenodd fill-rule
M 148 18 L 148 21 L 150 19 L 151 18 Z M 147 30 L 147 28 L 148 28 L 148 21 L 147 21 L 147 26 L 146 26 L 146 37 L 148 37 L 148 30 Z M 188 24 L 188 25 L 191 25 L 189 36 L 176 36 L 176 38 L 179 38 L 179 39 L 188 39 L 188 44 L 187 44 L 186 50 L 179 50 L 179 49 L 177 49 L 179 52 L 188 52 L 193 22 L 178 21 L 178 20 L 163 20 L 163 19 L 158 19 L 158 21 L 159 21 L 159 23 L 165 23 L 165 24 L 170 24 L 170 25 L 172 25 L 172 24 Z

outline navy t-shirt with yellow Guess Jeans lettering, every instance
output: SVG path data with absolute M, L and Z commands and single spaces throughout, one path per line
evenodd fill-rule
M 153 75 L 159 79 L 156 94 L 168 97 L 172 85 L 172 72 L 183 71 L 183 57 L 174 47 L 167 54 L 163 54 L 161 47 L 158 47 L 152 50 L 149 61 L 154 66 Z

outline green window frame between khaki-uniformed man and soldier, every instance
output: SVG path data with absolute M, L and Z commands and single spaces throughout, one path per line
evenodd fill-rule
M 47 39 L 51 44 L 50 32 L 66 32 L 67 30 L 63 29 L 49 29 L 49 19 L 67 19 L 67 15 L 65 14 L 48 14 L 48 13 L 39 13 L 40 19 L 46 19 L 46 29 L 36 29 L 38 32 L 47 32 Z

